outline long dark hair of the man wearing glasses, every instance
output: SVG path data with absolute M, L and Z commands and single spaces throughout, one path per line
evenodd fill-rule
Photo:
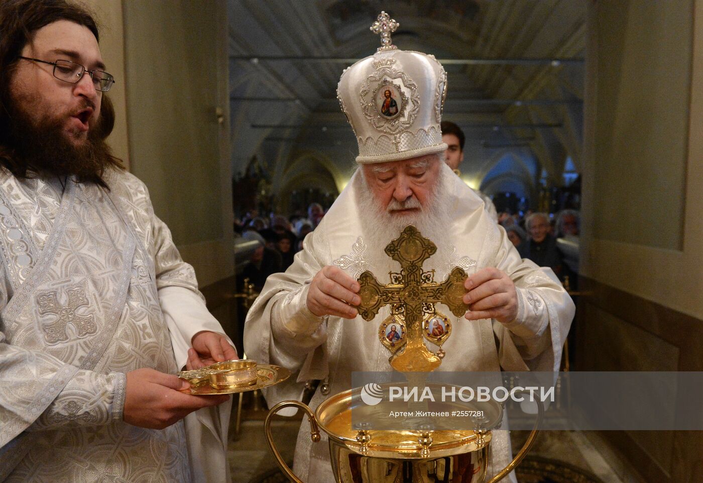
M 31 165 L 15 156 L 15 146 L 11 140 L 11 96 L 10 83 L 19 56 L 34 34 L 41 27 L 58 20 L 68 20 L 88 28 L 98 42 L 98 24 L 91 12 L 84 6 L 65 0 L 0 0 L 0 165 L 19 178 L 37 174 Z M 104 141 L 115 126 L 115 109 L 112 102 L 103 94 L 100 119 L 96 125 L 96 135 Z M 107 153 L 105 166 L 123 169 L 118 158 Z M 99 173 L 93 181 L 107 187 Z

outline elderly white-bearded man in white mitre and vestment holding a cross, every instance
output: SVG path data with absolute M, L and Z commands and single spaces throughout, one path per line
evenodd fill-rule
M 451 337 L 449 323 L 446 332 L 433 325 L 428 334 L 420 321 L 418 334 L 431 337 L 434 330 L 443 344 L 439 370 L 559 370 L 574 303 L 550 268 L 520 258 L 482 199 L 444 163 L 439 123 L 446 73 L 434 56 L 392 45 L 394 25 L 385 13 L 379 16 L 372 30 L 381 34 L 382 47 L 344 70 L 337 87 L 359 144 L 356 172 L 294 263 L 266 280 L 247 314 L 247 356 L 293 372 L 267 389 L 269 407 L 299 400 L 306 382 L 321 380 L 309 404 L 314 408 L 351 389 L 352 372 L 392 370 L 394 358 L 407 355 L 409 342 L 392 345 L 385 337 L 397 317 L 391 306 L 380 307 L 372 320 L 359 313 L 358 279 L 370 272 L 379 284 L 393 282 L 401 266 L 385 249 L 408 225 L 436 246 L 423 272 L 434 270 L 438 282 L 456 268 L 468 275 L 460 287 L 467 311 L 456 315 L 456 306 L 436 304 L 437 316 L 451 320 Z M 392 118 L 377 101 L 389 89 L 398 111 Z M 410 332 L 408 325 L 403 342 Z M 423 351 L 430 353 L 424 342 Z M 508 432 L 494 431 L 489 477 L 510 459 Z M 307 422 L 293 470 L 305 482 L 335 480 L 328 446 L 311 443 Z

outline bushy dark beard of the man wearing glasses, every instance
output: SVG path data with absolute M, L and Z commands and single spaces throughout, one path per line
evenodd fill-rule
M 73 177 L 76 182 L 96 182 L 106 187 L 103 181 L 105 168 L 114 165 L 110 147 L 101 136 L 101 120 L 91 126 L 88 137 L 73 144 L 63 131 L 65 118 L 44 116 L 33 120 L 22 110 L 18 100 L 11 106 L 11 128 L 9 139 L 13 156 L 27 167 L 27 175 L 39 177 Z M 84 101 L 85 108 L 90 106 Z

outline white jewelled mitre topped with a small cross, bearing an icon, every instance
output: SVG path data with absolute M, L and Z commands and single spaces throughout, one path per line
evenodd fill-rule
M 390 34 L 397 27 L 381 12 L 371 30 L 380 33 L 382 46 L 345 69 L 337 85 L 359 143 L 357 163 L 399 161 L 447 147 L 439 127 L 446 72 L 434 56 L 394 46 Z

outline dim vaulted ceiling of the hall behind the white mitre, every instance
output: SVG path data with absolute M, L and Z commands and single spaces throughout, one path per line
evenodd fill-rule
M 443 61 L 443 117 L 467 137 L 463 172 L 512 147 L 554 180 L 564 153 L 579 169 L 583 0 L 228 0 L 234 173 L 255 153 L 284 171 L 301 150 L 349 170 L 356 142 L 335 89 L 380 45 L 369 26 L 382 10 L 400 23 L 394 44 Z

